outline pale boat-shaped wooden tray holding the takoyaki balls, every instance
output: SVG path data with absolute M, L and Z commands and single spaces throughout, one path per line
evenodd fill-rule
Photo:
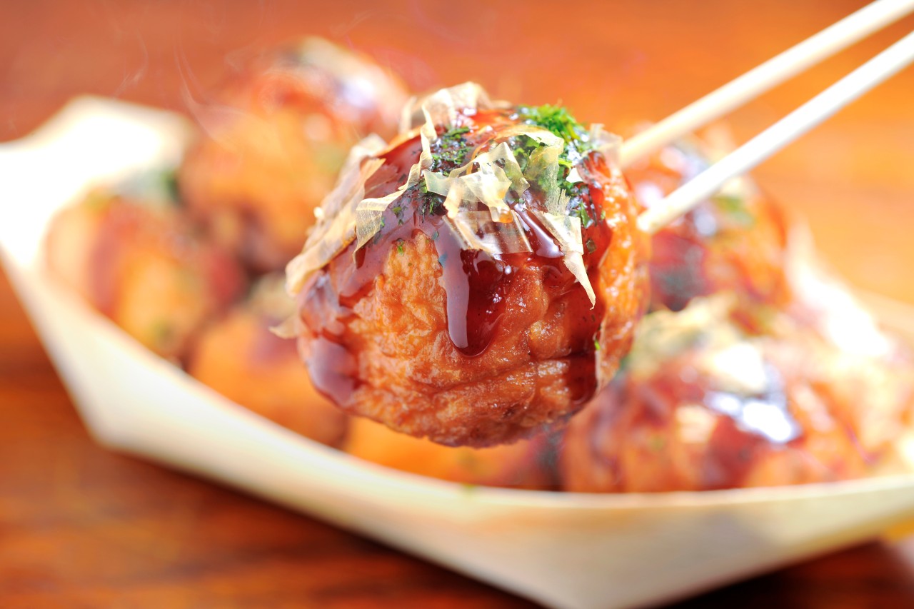
M 556 607 L 673 600 L 914 517 L 910 474 L 655 495 L 470 488 L 362 462 L 221 398 L 59 288 L 41 263 L 56 209 L 93 184 L 174 163 L 185 134 L 173 114 L 81 98 L 0 145 L 3 262 L 99 442 Z M 904 305 L 879 308 L 888 326 L 914 327 Z

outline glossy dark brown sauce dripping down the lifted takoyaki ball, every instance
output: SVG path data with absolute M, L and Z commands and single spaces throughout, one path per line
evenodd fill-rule
M 480 111 L 464 116 L 470 132 L 463 135 L 469 149 L 463 163 L 503 141 L 498 138 L 499 131 L 521 122 L 513 112 Z M 438 140 L 432 144 L 433 152 L 440 143 Z M 420 153 L 417 134 L 381 155 L 385 164 L 368 179 L 365 197 L 383 197 L 405 183 Z M 439 170 L 446 175 L 456 166 L 443 165 Z M 611 227 L 600 221 L 604 203 L 602 183 L 610 171 L 606 159 L 598 152 L 590 152 L 577 167 L 584 179 L 582 184 L 587 186 L 579 187 L 579 196 L 571 204 L 579 201 L 578 204 L 586 206 L 590 217 L 582 231 L 584 262 L 591 284 L 597 285 L 598 267 L 612 239 Z M 324 276 L 326 269 L 317 273 L 311 287 L 303 291 L 303 321 L 315 335 L 312 355 L 308 358 L 315 386 L 337 403 L 345 403 L 356 389 L 356 361 L 342 345 L 343 323 L 353 315 L 356 304 L 370 294 L 388 256 L 397 255 L 404 242 L 424 235 L 434 242 L 441 264 L 439 284 L 446 294 L 448 334 L 464 357 L 479 356 L 492 343 L 505 315 L 508 294 L 520 282 L 539 281 L 551 299 L 565 297 L 565 313 L 575 320 L 569 354 L 575 360 L 570 372 L 574 378 L 569 379 L 569 385 L 576 401 L 590 399 L 596 390 L 594 352 L 598 348 L 596 338 L 605 305 L 600 290 L 596 290 L 597 302 L 591 307 L 583 286 L 566 267 L 558 243 L 531 213 L 534 209 L 546 210 L 540 191 L 531 186 L 520 197 L 509 191 L 506 198 L 524 227 L 531 252 L 490 255 L 462 249 L 445 217 L 442 201 L 442 197 L 423 193 L 420 187 L 409 188 L 388 206 L 383 228 L 373 240 L 358 251 L 356 243 L 351 243 L 330 262 L 328 267 L 337 269 L 340 264 L 346 265 L 337 275 L 343 279 L 337 282 L 338 294 L 333 294 Z M 479 203 L 478 210 L 487 207 Z

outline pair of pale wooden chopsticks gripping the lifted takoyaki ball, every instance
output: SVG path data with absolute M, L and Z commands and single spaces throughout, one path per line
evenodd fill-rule
M 914 0 L 877 0 L 781 55 L 728 82 L 622 144 L 622 167 L 730 112 L 882 27 L 914 12 Z M 644 211 L 638 227 L 653 234 L 914 60 L 914 32 L 838 80 Z

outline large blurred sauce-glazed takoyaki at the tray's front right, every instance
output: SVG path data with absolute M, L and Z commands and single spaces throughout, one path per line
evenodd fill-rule
M 644 318 L 624 371 L 569 424 L 566 490 L 832 481 L 871 473 L 892 452 L 911 409 L 909 365 L 837 349 L 786 315 L 749 337 L 731 317 L 735 300 Z

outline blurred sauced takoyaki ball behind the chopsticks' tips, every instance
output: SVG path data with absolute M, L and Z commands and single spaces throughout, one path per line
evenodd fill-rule
M 636 196 L 651 207 L 732 148 L 722 130 L 707 141 L 683 140 L 626 169 Z M 755 301 L 782 303 L 787 248 L 781 210 L 748 177 L 654 234 L 651 309 L 679 311 L 696 297 L 733 290 Z

